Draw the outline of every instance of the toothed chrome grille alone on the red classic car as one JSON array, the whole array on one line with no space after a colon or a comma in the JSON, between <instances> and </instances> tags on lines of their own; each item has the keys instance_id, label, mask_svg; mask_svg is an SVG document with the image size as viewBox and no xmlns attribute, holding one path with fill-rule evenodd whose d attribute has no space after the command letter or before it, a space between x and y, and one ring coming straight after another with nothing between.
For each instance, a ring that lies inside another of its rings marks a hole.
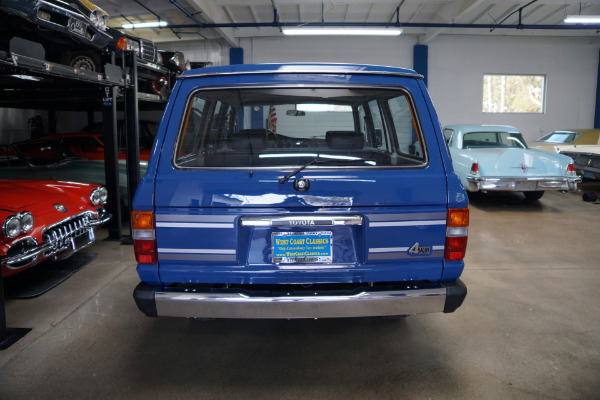
<instances>
[{"instance_id":1,"label":"toothed chrome grille alone on the red classic car","mask_svg":"<svg viewBox=\"0 0 600 400\"><path fill-rule=\"evenodd\" d=\"M42 233L42 238L44 243L50 244L52 248L44 255L49 256L65 249L74 248L76 246L75 239L83 235L86 235L83 238L86 242L88 242L87 237L93 241L94 230L90 225L90 220L95 218L93 212L86 211L46 228ZM89 242L91 243L91 241Z\"/></svg>"}]
</instances>

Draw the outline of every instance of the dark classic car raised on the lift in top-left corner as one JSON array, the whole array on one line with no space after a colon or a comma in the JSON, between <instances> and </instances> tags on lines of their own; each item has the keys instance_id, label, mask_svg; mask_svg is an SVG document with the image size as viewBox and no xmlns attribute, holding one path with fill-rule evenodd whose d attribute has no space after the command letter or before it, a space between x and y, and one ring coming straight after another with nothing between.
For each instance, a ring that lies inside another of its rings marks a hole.
<instances>
[{"instance_id":1,"label":"dark classic car raised on the lift in top-left corner","mask_svg":"<svg viewBox=\"0 0 600 400\"><path fill-rule=\"evenodd\" d=\"M0 0L0 47L10 51L11 39L20 37L40 43L48 61L100 65L101 52L112 40L108 20L89 0Z\"/></svg>"}]
</instances>

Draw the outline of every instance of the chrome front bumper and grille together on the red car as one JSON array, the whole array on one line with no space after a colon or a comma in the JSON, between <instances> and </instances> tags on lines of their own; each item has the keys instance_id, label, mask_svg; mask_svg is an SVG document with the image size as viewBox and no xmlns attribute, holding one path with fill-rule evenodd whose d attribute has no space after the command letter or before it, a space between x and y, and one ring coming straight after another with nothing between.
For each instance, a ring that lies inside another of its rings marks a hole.
<instances>
[{"instance_id":1,"label":"chrome front bumper and grille together on the red car","mask_svg":"<svg viewBox=\"0 0 600 400\"><path fill-rule=\"evenodd\" d=\"M64 252L71 255L92 244L95 240L94 229L107 222L111 217L111 214L102 210L98 217L95 217L92 212L86 211L67 218L44 230L42 235L45 239L44 242L23 247L14 255L0 256L0 265L6 265L9 269L19 269L28 266L40 255L43 255L44 258L59 253L62 256ZM11 249L9 248L7 254L10 253Z\"/></svg>"}]
</instances>

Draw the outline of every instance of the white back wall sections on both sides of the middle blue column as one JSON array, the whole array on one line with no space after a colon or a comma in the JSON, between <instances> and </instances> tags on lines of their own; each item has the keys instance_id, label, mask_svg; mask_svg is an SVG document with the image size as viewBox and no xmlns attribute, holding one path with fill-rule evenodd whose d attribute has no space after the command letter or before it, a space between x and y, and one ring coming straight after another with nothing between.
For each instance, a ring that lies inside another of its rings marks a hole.
<instances>
[{"instance_id":1,"label":"white back wall sections on both sides of the middle blue column","mask_svg":"<svg viewBox=\"0 0 600 400\"><path fill-rule=\"evenodd\" d=\"M416 36L241 39L245 63L355 62L412 68ZM442 124L506 124L528 141L554 129L592 127L600 38L438 36L429 90ZM544 114L484 114L484 73L546 76Z\"/></svg>"}]
</instances>

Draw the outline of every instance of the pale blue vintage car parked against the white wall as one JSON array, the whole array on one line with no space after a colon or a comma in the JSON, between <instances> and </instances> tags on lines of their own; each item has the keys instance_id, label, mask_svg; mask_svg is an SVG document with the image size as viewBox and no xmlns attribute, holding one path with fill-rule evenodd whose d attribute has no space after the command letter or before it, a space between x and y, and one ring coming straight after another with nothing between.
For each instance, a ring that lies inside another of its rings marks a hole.
<instances>
[{"instance_id":1,"label":"pale blue vintage car parked against the white wall","mask_svg":"<svg viewBox=\"0 0 600 400\"><path fill-rule=\"evenodd\" d=\"M454 171L469 191L518 191L538 200L546 190L574 191L581 182L571 157L528 148L512 126L449 125L444 136Z\"/></svg>"}]
</instances>

